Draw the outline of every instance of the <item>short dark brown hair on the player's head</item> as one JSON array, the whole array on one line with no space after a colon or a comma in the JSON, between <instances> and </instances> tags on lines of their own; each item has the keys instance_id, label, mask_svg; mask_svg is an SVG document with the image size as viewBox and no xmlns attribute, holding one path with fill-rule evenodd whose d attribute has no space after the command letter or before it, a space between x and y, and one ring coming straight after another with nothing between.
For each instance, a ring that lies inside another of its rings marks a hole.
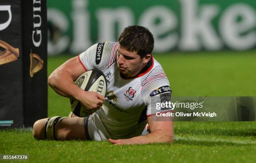
<instances>
[{"instance_id":1,"label":"short dark brown hair on the player's head","mask_svg":"<svg viewBox=\"0 0 256 163\"><path fill-rule=\"evenodd\" d=\"M143 58L151 54L154 48L154 37L148 28L133 25L126 27L118 38L121 48L137 52Z\"/></svg>"}]
</instances>

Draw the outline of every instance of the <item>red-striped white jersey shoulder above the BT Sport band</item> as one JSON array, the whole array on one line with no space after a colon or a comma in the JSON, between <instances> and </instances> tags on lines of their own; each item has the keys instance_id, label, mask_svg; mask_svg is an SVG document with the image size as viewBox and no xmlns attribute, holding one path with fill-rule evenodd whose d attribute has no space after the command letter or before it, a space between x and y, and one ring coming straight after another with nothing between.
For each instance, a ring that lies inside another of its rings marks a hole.
<instances>
[{"instance_id":1,"label":"red-striped white jersey shoulder above the BT Sport band","mask_svg":"<svg viewBox=\"0 0 256 163\"><path fill-rule=\"evenodd\" d=\"M154 59L153 64L152 69L141 76L141 93L143 96L161 87L170 89L169 80L161 64L156 59Z\"/></svg>"}]
</instances>

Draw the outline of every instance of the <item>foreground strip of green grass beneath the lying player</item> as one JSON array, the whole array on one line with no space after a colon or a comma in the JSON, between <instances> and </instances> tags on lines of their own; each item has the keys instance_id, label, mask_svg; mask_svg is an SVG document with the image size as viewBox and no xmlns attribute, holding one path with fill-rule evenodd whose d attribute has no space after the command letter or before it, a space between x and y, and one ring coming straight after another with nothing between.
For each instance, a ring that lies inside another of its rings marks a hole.
<instances>
[{"instance_id":1,"label":"foreground strip of green grass beneath the lying player","mask_svg":"<svg viewBox=\"0 0 256 163\"><path fill-rule=\"evenodd\" d=\"M35 162L251 162L255 122L175 122L172 144L122 145L93 141L35 140L30 130L0 132L3 154L28 154Z\"/></svg>"}]
</instances>

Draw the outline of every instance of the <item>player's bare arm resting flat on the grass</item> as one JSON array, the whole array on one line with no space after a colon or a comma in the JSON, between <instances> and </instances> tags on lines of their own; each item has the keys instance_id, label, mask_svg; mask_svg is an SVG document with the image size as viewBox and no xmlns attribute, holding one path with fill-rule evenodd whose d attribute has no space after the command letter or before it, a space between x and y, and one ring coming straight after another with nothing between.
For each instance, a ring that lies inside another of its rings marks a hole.
<instances>
[{"instance_id":1,"label":"player's bare arm resting flat on the grass","mask_svg":"<svg viewBox=\"0 0 256 163\"><path fill-rule=\"evenodd\" d=\"M172 118L169 121L153 121L156 115L148 117L150 133L144 136L136 136L129 139L108 139L115 145L122 144L148 144L148 143L171 143L174 138Z\"/></svg>"}]
</instances>

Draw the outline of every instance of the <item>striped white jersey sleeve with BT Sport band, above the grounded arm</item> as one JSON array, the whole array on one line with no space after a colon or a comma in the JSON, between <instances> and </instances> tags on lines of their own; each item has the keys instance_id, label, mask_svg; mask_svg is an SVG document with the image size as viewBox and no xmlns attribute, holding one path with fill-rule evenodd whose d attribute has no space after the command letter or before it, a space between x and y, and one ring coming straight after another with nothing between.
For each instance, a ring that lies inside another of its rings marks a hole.
<instances>
[{"instance_id":1,"label":"striped white jersey sleeve with BT Sport band, above the grounded arm","mask_svg":"<svg viewBox=\"0 0 256 163\"><path fill-rule=\"evenodd\" d=\"M141 78L141 86L141 94L147 106L147 116L172 110L169 107L160 108L160 103L171 102L172 94L169 80L160 65L146 77Z\"/></svg>"}]
</instances>

